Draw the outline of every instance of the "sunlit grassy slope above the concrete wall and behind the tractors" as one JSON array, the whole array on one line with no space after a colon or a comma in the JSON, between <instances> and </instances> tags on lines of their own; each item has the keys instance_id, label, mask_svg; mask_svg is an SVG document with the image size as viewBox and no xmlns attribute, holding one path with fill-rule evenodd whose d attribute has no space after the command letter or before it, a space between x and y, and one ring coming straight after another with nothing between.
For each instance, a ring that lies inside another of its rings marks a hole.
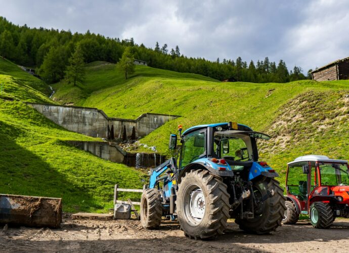
<instances>
[{"instance_id":1,"label":"sunlit grassy slope above the concrete wall and behind the tractors","mask_svg":"<svg viewBox=\"0 0 349 253\"><path fill-rule=\"evenodd\" d=\"M178 124L186 129L201 123L238 121L274 137L260 143L261 159L283 177L286 163L299 155L349 157L345 148L349 144L349 101L344 99L349 81L224 83L181 78L180 73L166 77L157 69L142 67L127 81L114 79L110 87L93 92L89 87L100 86L89 81L92 76L96 81L98 76L116 75L114 68L96 64L100 65L96 71L89 67L86 88L79 88L91 95L75 101L98 107L112 117L136 118L144 112L181 115L141 140L162 153L168 154L168 136L177 133ZM144 71L148 71L147 77L142 76ZM101 87L106 87L106 82L102 83Z\"/></svg>"}]
</instances>

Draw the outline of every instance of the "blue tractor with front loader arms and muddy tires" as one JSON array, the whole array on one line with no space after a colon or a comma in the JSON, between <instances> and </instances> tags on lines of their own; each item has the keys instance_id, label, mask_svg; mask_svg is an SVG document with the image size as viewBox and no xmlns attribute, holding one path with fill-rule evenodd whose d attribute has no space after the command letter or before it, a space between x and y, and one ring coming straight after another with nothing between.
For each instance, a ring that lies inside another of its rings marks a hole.
<instances>
[{"instance_id":1,"label":"blue tractor with front loader arms and muddy tires","mask_svg":"<svg viewBox=\"0 0 349 253\"><path fill-rule=\"evenodd\" d=\"M186 236L205 239L223 234L229 218L256 234L281 226L286 207L279 175L258 161L256 141L268 135L235 122L179 130L179 159L151 170L142 194L144 228L155 229L167 217L178 219ZM177 148L177 135L170 135L169 148Z\"/></svg>"}]
</instances>

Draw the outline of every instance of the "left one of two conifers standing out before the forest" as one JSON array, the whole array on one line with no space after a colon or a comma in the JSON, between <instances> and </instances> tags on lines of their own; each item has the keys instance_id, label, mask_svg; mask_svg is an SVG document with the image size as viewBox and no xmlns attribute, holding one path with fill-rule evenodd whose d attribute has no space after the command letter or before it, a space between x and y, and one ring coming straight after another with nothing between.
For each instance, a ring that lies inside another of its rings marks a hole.
<instances>
[{"instance_id":1,"label":"left one of two conifers standing out before the forest","mask_svg":"<svg viewBox=\"0 0 349 253\"><path fill-rule=\"evenodd\" d=\"M69 66L65 72L65 79L68 83L82 82L85 77L85 69L83 62L83 55L78 44L75 48L75 52L69 58Z\"/></svg>"}]
</instances>

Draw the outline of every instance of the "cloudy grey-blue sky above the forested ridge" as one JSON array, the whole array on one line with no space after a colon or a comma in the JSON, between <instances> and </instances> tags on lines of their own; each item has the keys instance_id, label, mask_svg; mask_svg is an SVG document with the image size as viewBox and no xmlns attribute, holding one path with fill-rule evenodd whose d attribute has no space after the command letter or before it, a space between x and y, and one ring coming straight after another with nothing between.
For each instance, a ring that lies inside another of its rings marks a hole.
<instances>
[{"instance_id":1,"label":"cloudy grey-blue sky above the forested ridge","mask_svg":"<svg viewBox=\"0 0 349 253\"><path fill-rule=\"evenodd\" d=\"M346 0L0 0L0 6L0 16L15 24L90 29L152 48L158 41L209 60L268 56L306 72L349 56Z\"/></svg>"}]
</instances>

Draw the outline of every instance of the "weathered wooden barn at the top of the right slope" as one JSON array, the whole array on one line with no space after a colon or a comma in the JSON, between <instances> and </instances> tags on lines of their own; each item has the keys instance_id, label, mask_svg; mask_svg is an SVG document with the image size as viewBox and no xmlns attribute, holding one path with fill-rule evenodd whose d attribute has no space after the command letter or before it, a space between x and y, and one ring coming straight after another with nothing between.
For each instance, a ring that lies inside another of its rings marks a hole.
<instances>
[{"instance_id":1,"label":"weathered wooden barn at the top of the right slope","mask_svg":"<svg viewBox=\"0 0 349 253\"><path fill-rule=\"evenodd\" d=\"M331 62L312 72L313 80L332 81L349 79L349 57Z\"/></svg>"}]
</instances>

